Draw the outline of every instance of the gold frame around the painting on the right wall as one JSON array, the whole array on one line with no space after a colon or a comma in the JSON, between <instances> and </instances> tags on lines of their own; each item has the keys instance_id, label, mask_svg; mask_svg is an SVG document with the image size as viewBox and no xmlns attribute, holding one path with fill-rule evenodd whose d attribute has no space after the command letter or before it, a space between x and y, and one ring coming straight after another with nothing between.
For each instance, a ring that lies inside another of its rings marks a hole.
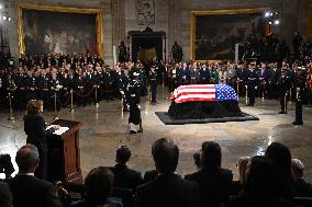
<instances>
[{"instance_id":1,"label":"gold frame around the painting on the right wall","mask_svg":"<svg viewBox=\"0 0 312 207\"><path fill-rule=\"evenodd\" d=\"M268 10L268 8L253 8L253 9L223 9L223 10L208 10L208 11L191 11L190 15L190 59L196 61L205 61L194 59L194 42L197 31L197 16L198 15L222 15L222 14L249 14L260 13ZM219 61L219 60L211 60Z\"/></svg>"}]
</instances>

